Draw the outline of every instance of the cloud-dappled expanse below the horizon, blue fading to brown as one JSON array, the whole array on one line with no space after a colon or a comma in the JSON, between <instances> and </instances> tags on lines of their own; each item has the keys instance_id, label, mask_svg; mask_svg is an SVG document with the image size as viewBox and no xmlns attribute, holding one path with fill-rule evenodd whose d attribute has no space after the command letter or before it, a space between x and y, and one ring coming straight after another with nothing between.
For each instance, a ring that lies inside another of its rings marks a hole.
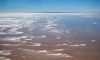
<instances>
[{"instance_id":1,"label":"cloud-dappled expanse below the horizon, blue fading to brown","mask_svg":"<svg viewBox=\"0 0 100 60\"><path fill-rule=\"evenodd\" d=\"M0 60L100 59L99 13L14 14L0 15Z\"/></svg>"}]
</instances>

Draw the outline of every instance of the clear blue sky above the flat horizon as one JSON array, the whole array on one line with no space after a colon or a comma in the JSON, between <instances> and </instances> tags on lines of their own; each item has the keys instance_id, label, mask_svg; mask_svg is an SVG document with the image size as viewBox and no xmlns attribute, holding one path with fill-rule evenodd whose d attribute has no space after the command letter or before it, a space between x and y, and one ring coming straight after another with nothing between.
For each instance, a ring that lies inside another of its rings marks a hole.
<instances>
[{"instance_id":1,"label":"clear blue sky above the flat horizon","mask_svg":"<svg viewBox=\"0 0 100 60\"><path fill-rule=\"evenodd\" d=\"M0 12L100 12L100 0L0 0Z\"/></svg>"}]
</instances>

